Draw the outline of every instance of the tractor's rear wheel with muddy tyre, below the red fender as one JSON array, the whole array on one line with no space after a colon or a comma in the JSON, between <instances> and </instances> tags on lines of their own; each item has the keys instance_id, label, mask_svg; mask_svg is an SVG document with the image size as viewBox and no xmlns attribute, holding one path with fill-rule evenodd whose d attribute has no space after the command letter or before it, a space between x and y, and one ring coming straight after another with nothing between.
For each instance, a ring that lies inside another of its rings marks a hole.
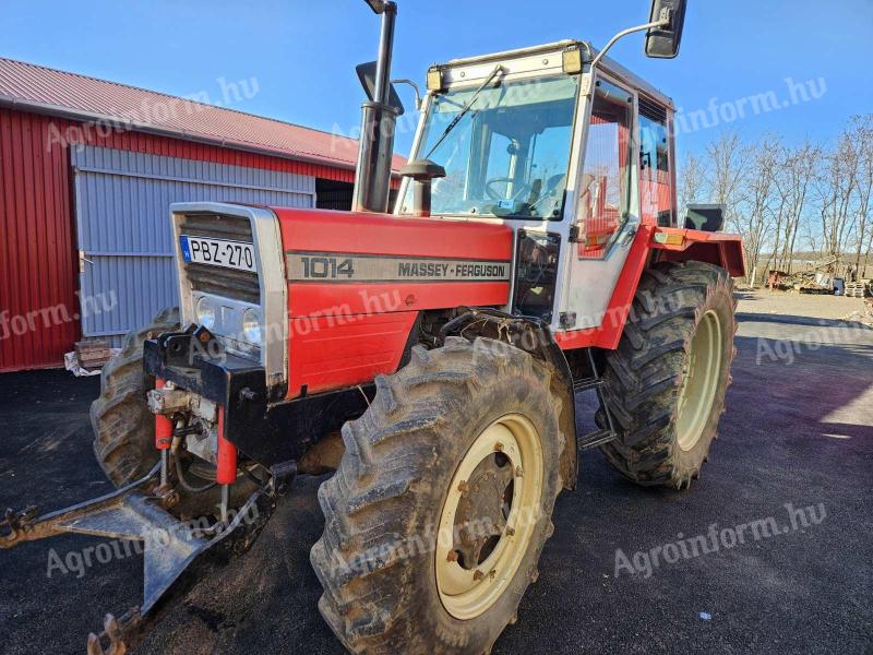
<instances>
[{"instance_id":1,"label":"tractor's rear wheel with muddy tyre, below the red fender","mask_svg":"<svg viewBox=\"0 0 873 655\"><path fill-rule=\"evenodd\" d=\"M619 439L601 451L627 479L682 489L699 476L731 381L736 306L718 266L661 263L643 274L603 373Z\"/></svg>"}]
</instances>

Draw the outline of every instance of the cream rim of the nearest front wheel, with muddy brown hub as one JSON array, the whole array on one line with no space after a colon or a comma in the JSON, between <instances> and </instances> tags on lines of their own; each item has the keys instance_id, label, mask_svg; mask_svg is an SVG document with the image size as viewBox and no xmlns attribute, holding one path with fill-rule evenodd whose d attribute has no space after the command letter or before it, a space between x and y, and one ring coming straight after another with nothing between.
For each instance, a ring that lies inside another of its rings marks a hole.
<instances>
[{"instance_id":1,"label":"cream rim of the nearest front wheel, with muddy brown hub","mask_svg":"<svg viewBox=\"0 0 873 655\"><path fill-rule=\"evenodd\" d=\"M488 426L464 455L436 535L436 586L453 617L481 616L515 577L539 523L542 478L539 434L518 414Z\"/></svg>"}]
</instances>

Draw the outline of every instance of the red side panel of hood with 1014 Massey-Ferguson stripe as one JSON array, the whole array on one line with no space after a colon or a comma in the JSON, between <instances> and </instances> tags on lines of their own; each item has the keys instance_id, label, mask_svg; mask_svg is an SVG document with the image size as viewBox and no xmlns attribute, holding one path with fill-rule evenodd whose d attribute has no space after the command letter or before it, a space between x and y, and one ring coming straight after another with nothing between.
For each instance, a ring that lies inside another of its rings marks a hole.
<instances>
[{"instance_id":1,"label":"red side panel of hood with 1014 Massey-Ferguson stripe","mask_svg":"<svg viewBox=\"0 0 873 655\"><path fill-rule=\"evenodd\" d=\"M505 225L273 211L288 281L288 397L394 372L423 310L509 302Z\"/></svg>"}]
</instances>

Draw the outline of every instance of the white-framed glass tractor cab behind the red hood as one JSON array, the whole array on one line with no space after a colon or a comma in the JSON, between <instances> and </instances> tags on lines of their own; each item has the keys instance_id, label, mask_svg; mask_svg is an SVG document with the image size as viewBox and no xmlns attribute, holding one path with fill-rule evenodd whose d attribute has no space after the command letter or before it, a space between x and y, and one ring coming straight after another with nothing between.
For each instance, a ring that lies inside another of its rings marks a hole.
<instances>
[{"instance_id":1,"label":"white-framed glass tractor cab behind the red hood","mask_svg":"<svg viewBox=\"0 0 873 655\"><path fill-rule=\"evenodd\" d=\"M509 225L507 310L554 332L599 325L638 228L677 225L670 98L576 40L456 59L427 80L410 159L438 174L407 177L395 214Z\"/></svg>"}]
</instances>

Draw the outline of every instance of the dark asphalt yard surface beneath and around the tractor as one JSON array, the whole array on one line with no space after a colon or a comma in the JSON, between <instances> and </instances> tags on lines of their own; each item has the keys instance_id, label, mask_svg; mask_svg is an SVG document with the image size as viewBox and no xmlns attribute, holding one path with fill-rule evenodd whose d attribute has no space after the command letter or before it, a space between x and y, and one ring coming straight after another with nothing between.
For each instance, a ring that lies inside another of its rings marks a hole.
<instances>
[{"instance_id":1,"label":"dark asphalt yard surface beneath and around the tractor","mask_svg":"<svg viewBox=\"0 0 873 655\"><path fill-rule=\"evenodd\" d=\"M728 412L702 479L683 492L639 489L587 455L578 489L558 500L539 581L494 652L873 652L873 330L833 320L850 300L744 296ZM61 371L0 376L0 502L57 508L108 489L89 446L97 390ZM579 400L582 417L591 408ZM180 598L140 652L342 653L309 567L319 481L299 479L252 551ZM817 523L794 528L787 504ZM714 524L736 534L770 519L781 534L654 563L653 549ZM57 565L99 543L65 536L0 553L4 653L82 653L104 612L139 602L135 555ZM622 556L639 564L633 573L617 569Z\"/></svg>"}]
</instances>

